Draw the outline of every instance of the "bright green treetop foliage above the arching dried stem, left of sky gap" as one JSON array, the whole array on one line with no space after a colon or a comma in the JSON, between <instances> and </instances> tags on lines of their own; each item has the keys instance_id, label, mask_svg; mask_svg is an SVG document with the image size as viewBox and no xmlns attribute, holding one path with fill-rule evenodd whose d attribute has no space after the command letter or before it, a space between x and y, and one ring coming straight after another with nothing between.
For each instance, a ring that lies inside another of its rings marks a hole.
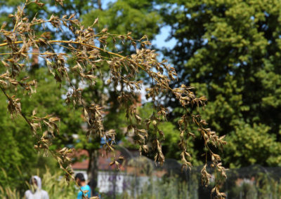
<instances>
[{"instance_id":1,"label":"bright green treetop foliage above the arching dried stem, left of sky gap","mask_svg":"<svg viewBox=\"0 0 281 199\"><path fill-rule=\"evenodd\" d=\"M159 33L161 17L157 11L152 11L153 4L151 1L118 0L115 3L108 4L107 7L105 10L95 9L83 15L84 25L92 25L94 20L98 18L96 32L100 32L103 28L107 28L111 34L131 32L134 39L141 39L146 35L148 39L152 40ZM122 50L125 55L131 50L131 45L126 41L122 45L116 46L121 48L119 50ZM114 50L113 43L109 43L107 47Z\"/></svg>"}]
</instances>

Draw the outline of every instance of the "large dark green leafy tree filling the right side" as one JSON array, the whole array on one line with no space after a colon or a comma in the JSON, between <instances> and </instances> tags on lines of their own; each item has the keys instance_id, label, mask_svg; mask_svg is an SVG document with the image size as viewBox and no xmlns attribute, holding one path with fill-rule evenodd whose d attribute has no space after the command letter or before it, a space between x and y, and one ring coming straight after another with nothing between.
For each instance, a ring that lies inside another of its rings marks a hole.
<instances>
[{"instance_id":1,"label":"large dark green leafy tree filling the right side","mask_svg":"<svg viewBox=\"0 0 281 199\"><path fill-rule=\"evenodd\" d=\"M280 148L280 6L280 1L179 0L162 8L177 40L165 50L180 74L174 85L201 88L197 94L208 98L203 116L220 135L229 135L225 160L236 167L280 165L280 153L272 153ZM244 148L247 153L238 150Z\"/></svg>"}]
</instances>

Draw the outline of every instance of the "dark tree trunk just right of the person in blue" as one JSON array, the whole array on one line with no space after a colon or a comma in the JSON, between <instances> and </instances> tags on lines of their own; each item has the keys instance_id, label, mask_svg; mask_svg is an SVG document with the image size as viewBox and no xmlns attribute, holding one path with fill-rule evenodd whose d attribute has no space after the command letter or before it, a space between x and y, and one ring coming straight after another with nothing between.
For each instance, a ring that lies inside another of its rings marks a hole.
<instances>
[{"instance_id":1,"label":"dark tree trunk just right of the person in blue","mask_svg":"<svg viewBox=\"0 0 281 199\"><path fill-rule=\"evenodd\" d=\"M92 195L97 195L96 188L98 187L98 149L89 151L89 167L88 176L90 179L89 186L91 187Z\"/></svg>"}]
</instances>

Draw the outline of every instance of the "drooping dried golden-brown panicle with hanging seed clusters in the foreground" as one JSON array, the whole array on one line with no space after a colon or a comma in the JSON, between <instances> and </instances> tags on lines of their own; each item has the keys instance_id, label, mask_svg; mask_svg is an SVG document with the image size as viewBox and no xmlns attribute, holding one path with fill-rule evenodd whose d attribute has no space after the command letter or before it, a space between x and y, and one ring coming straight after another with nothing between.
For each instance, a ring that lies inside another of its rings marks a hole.
<instances>
[{"instance_id":1,"label":"drooping dried golden-brown panicle with hanging seed clusters in the foreground","mask_svg":"<svg viewBox=\"0 0 281 199\"><path fill-rule=\"evenodd\" d=\"M61 0L56 0L56 2L63 5ZM158 125L162 121L166 121L169 111L161 104L160 96L174 95L183 109L185 109L185 113L178 121L181 130L181 134L178 136L181 137L179 146L182 150L181 160L183 167L191 166L187 139L189 136L195 136L188 130L189 125L194 123L201 132L202 139L204 139L204 147L207 149L209 156L211 156L213 166L225 175L220 157L211 151L209 145L218 147L226 144L226 142L223 140L223 137L218 137L215 132L206 128L207 123L201 118L200 114L193 114L194 111L192 111L196 107L198 109L199 107L204 107L207 98L196 97L194 92L192 92L193 88L186 85L181 85L181 88L170 87L172 81L176 81L176 71L169 64L166 64L165 60L159 62L155 50L145 48L150 45L146 36L143 36L141 39L133 39L130 36L130 32L126 35L116 35L110 34L107 32L107 29L96 33L93 27L98 23L98 19L93 22L91 27L84 27L80 24L79 20L75 19L74 15L64 15L63 18L51 15L49 19L38 19L35 17L29 19L25 15L25 8L29 4L44 6L39 1L27 0L22 7L18 7L15 15L10 16L15 22L13 29L5 29L5 25L2 25L0 29L1 37L5 38L5 41L0 43L0 47L5 48L7 52L0 54L1 62L7 69L6 73L0 75L0 86L8 99L8 110L10 113L13 115L20 114L24 117L30 125L32 132L38 138L38 144L35 148L48 150L51 140L59 133L57 125L59 118L55 116L39 117L35 111L32 116L25 116L21 111L24 107L20 107L20 99L17 99L15 96L10 97L5 92L8 88L18 88L19 85L24 90L27 90L29 95L35 92L36 79L32 81L27 81L28 78L18 80L20 72L25 71L27 66L29 66L27 61L31 55L41 57L55 80L70 88L66 93L65 102L72 104L74 107L83 107L82 114L89 126L87 135L103 137L105 139L104 147L107 151L114 151L115 130L105 130L103 126L104 107L102 104L87 102L82 97L84 90L77 88L70 79L70 74L72 74L75 81L94 85L101 76L100 68L105 65L109 68L107 85L115 88L118 85L124 85L126 88L126 92L120 92L118 102L120 106L126 107L126 117L130 122L127 129L133 131L135 142L139 144L140 151L148 153L148 151L153 150L155 151L155 162L164 163L161 146L164 133L159 130ZM73 39L70 41L52 40L50 32L43 32L41 36L37 36L34 29L38 26L45 27L46 24L52 25L60 32L70 32ZM107 42L115 43L117 41L131 43L131 46L136 48L136 52L130 56L124 56L121 53L108 51ZM100 47L96 46L96 43ZM60 46L67 53L62 53L61 50L58 53L55 50L55 46ZM38 50L32 51L32 49ZM76 64L67 64L68 59L74 60ZM133 103L143 85L143 81L137 81L140 71L145 72L152 82L150 88L145 90L146 97L154 102L155 112L150 118L141 118L138 115L136 103ZM145 124L147 128L139 129L140 124ZM47 128L46 132L41 132L42 125ZM156 133L151 133L149 131L150 127ZM148 146L148 139L152 139L152 147ZM67 173L68 178L72 174L69 167L70 160L67 158L67 153L70 152L71 150L66 148L52 152L58 163L60 163L60 167ZM117 160L112 162L112 164L115 163L117 163ZM209 181L209 174L206 170L202 170L202 179L204 182Z\"/></svg>"}]
</instances>

